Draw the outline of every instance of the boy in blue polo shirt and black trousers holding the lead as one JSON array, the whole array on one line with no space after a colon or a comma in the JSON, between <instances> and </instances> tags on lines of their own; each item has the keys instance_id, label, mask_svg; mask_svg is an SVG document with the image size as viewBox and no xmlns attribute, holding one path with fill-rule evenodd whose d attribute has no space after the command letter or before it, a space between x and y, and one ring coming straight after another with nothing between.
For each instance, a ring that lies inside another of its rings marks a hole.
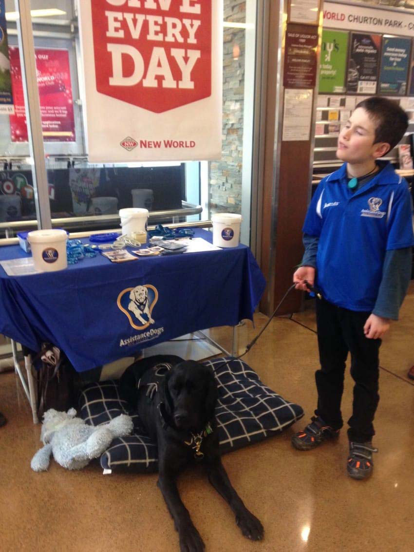
<instances>
[{"instance_id":1,"label":"boy in blue polo shirt and black trousers holding the lead","mask_svg":"<svg viewBox=\"0 0 414 552\"><path fill-rule=\"evenodd\" d=\"M309 450L338 437L350 352L354 394L347 471L354 479L373 469L378 352L390 319L398 319L411 276L410 192L389 162L378 161L407 126L406 113L389 99L374 96L357 105L339 133L336 155L344 163L322 179L307 211L305 254L293 275L296 289L315 283L323 298L316 300L317 408L292 444Z\"/></svg>"}]
</instances>

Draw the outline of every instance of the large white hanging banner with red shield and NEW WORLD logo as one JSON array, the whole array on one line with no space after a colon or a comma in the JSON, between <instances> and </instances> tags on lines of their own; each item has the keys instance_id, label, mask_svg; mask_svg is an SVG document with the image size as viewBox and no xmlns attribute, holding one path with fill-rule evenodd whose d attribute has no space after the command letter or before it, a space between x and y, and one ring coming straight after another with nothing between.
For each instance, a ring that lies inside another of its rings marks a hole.
<instances>
[{"instance_id":1,"label":"large white hanging banner with red shield and NEW WORLD logo","mask_svg":"<svg viewBox=\"0 0 414 552\"><path fill-rule=\"evenodd\" d=\"M78 7L89 161L220 158L222 0Z\"/></svg>"}]
</instances>

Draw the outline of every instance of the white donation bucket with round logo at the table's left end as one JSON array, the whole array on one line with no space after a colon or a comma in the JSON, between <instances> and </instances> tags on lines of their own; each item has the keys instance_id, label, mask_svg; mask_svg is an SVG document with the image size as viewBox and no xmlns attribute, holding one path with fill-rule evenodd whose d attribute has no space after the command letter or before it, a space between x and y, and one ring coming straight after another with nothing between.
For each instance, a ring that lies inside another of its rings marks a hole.
<instances>
[{"instance_id":1,"label":"white donation bucket with round logo at the table's left end","mask_svg":"<svg viewBox=\"0 0 414 552\"><path fill-rule=\"evenodd\" d=\"M65 230L33 230L27 238L36 270L52 272L67 267Z\"/></svg>"}]
</instances>

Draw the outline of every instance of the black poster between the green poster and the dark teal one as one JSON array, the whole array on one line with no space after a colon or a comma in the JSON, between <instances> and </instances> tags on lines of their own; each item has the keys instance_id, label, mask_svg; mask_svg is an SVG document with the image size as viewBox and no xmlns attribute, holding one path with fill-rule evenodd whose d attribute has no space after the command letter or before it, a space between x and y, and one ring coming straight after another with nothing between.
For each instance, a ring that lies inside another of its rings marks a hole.
<instances>
[{"instance_id":1,"label":"black poster between the green poster and the dark teal one","mask_svg":"<svg viewBox=\"0 0 414 552\"><path fill-rule=\"evenodd\" d=\"M381 35L352 33L349 46L347 92L375 94Z\"/></svg>"}]
</instances>

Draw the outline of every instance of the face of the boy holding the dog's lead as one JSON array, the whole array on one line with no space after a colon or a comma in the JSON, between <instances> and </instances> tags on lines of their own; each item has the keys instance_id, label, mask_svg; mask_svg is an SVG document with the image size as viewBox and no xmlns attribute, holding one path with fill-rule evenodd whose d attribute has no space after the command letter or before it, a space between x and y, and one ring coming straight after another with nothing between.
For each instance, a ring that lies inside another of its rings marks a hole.
<instances>
[{"instance_id":1,"label":"face of the boy holding the dog's lead","mask_svg":"<svg viewBox=\"0 0 414 552\"><path fill-rule=\"evenodd\" d=\"M390 148L386 142L375 141L375 122L364 108L355 109L339 132L336 156L351 164L374 161Z\"/></svg>"}]
</instances>

